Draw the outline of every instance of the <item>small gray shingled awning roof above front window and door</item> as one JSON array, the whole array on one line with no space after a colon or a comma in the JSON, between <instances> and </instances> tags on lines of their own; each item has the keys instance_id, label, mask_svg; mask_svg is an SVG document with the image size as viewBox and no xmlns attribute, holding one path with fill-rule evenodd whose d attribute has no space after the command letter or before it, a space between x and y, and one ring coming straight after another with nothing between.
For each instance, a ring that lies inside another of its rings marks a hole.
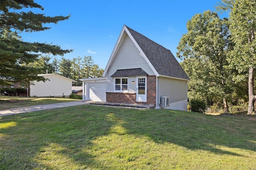
<instances>
[{"instance_id":1,"label":"small gray shingled awning roof above front window and door","mask_svg":"<svg viewBox=\"0 0 256 170\"><path fill-rule=\"evenodd\" d=\"M122 69L117 70L113 75L110 77L128 77L128 76L140 76L140 75L148 75L143 69Z\"/></svg>"}]
</instances>

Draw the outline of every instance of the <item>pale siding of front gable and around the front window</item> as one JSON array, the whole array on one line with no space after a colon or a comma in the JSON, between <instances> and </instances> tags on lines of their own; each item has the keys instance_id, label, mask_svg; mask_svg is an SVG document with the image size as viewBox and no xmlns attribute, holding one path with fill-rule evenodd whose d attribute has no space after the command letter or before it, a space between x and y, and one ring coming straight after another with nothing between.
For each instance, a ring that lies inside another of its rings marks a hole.
<instances>
[{"instance_id":1,"label":"pale siding of front gable and around the front window","mask_svg":"<svg viewBox=\"0 0 256 170\"><path fill-rule=\"evenodd\" d=\"M135 69L141 68L148 75L154 75L154 72L148 65L147 61L139 55L140 52L138 48L134 45L132 40L128 35L125 36L121 46L119 47L114 60L111 65L108 67L107 76L107 91L114 91L114 77L110 77L112 74L119 69ZM136 77L128 77L128 92L136 92L136 85L132 84L132 81L136 82Z\"/></svg>"}]
</instances>

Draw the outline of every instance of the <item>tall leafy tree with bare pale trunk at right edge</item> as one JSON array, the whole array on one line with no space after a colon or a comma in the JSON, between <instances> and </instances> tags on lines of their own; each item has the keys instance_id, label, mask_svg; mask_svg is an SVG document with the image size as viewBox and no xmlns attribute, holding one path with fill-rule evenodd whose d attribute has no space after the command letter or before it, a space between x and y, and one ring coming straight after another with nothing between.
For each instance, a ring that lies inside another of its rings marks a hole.
<instances>
[{"instance_id":1,"label":"tall leafy tree with bare pale trunk at right edge","mask_svg":"<svg viewBox=\"0 0 256 170\"><path fill-rule=\"evenodd\" d=\"M256 69L256 0L236 0L230 11L230 31L235 43L231 66L239 73L248 71L248 114L253 114L254 72Z\"/></svg>"}]
</instances>

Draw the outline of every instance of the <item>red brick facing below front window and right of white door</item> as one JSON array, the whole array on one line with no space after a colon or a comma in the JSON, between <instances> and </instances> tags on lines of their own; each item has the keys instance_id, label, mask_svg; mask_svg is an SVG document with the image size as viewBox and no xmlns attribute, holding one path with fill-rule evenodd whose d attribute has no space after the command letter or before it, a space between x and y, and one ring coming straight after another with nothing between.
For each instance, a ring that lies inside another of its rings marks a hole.
<instances>
[{"instance_id":1,"label":"red brick facing below front window and right of white door","mask_svg":"<svg viewBox=\"0 0 256 170\"><path fill-rule=\"evenodd\" d=\"M131 103L156 105L156 76L147 76L147 102L136 102L136 93L106 92L106 101L109 103Z\"/></svg>"}]
</instances>

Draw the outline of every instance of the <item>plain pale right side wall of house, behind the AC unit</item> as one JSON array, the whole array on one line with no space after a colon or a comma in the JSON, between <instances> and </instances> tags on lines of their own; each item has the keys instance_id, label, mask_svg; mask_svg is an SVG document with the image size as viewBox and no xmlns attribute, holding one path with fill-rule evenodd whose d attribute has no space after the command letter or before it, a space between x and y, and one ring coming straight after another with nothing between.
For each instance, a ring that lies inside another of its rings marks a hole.
<instances>
[{"instance_id":1,"label":"plain pale right side wall of house, behind the AC unit","mask_svg":"<svg viewBox=\"0 0 256 170\"><path fill-rule=\"evenodd\" d=\"M170 106L165 109L187 110L187 81L171 79L166 77L158 78L159 97L170 96ZM160 99L159 99L160 100Z\"/></svg>"}]
</instances>

